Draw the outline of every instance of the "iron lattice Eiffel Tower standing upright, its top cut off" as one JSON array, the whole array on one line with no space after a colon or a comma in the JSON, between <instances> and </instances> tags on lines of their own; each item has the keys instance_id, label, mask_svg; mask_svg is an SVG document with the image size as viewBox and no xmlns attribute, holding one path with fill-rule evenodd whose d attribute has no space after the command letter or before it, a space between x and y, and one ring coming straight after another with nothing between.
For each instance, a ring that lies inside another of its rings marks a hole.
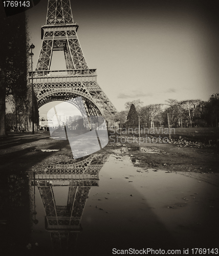
<instances>
[{"instance_id":1,"label":"iron lattice Eiffel Tower standing upright, its top cut off","mask_svg":"<svg viewBox=\"0 0 219 256\"><path fill-rule=\"evenodd\" d=\"M38 108L51 101L82 97L88 116L117 110L97 83L96 69L89 69L83 56L70 0L49 0L46 25L41 27L42 46L33 86ZM51 71L53 51L63 51L66 70Z\"/></svg>"}]
</instances>

